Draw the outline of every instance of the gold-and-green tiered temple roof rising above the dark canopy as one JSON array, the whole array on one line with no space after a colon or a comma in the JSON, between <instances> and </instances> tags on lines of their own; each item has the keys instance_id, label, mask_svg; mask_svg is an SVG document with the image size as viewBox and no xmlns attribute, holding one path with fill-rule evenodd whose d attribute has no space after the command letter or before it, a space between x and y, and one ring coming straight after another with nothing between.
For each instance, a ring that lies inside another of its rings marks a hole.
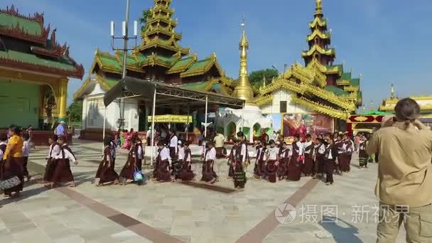
<instances>
[{"instance_id":1,"label":"gold-and-green tiered temple roof rising above the dark canopy","mask_svg":"<svg viewBox=\"0 0 432 243\"><path fill-rule=\"evenodd\" d=\"M180 45L182 34L175 31L178 21L173 20L174 9L170 4L171 0L154 0L147 26L141 31L142 42L127 55L127 75L229 95L232 80L225 77L216 53L199 59L196 53L190 54L190 48ZM122 60L122 51L112 54L96 50L90 69L94 78L82 85L75 98L86 95L95 80L105 91L109 90L121 78Z\"/></svg>"}]
</instances>

